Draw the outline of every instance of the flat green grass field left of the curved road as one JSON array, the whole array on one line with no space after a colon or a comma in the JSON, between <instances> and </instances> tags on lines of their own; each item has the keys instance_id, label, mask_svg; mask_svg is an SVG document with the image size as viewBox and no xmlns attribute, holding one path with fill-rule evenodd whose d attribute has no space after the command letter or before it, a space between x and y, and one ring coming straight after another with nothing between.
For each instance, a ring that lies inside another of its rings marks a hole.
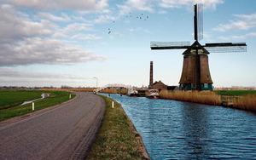
<instances>
[{"instance_id":1,"label":"flat green grass field left of the curved road","mask_svg":"<svg viewBox=\"0 0 256 160\"><path fill-rule=\"evenodd\" d=\"M43 91L43 90L0 90L0 122L12 117L18 117L31 113L32 103L20 105L23 100L35 100L41 98L41 94L49 93L50 97L34 101L35 110L42 110L49 106L55 106L64 101L70 100L70 92L63 91ZM72 94L71 98L74 98L75 94Z\"/></svg>"}]
</instances>

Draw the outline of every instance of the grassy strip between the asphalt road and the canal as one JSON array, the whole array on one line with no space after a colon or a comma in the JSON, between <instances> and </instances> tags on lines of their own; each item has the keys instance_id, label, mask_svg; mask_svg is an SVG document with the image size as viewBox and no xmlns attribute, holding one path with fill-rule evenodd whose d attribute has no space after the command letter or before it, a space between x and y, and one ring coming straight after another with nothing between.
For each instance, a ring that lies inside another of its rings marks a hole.
<instances>
[{"instance_id":1,"label":"grassy strip between the asphalt road and the canal","mask_svg":"<svg viewBox=\"0 0 256 160\"><path fill-rule=\"evenodd\" d=\"M114 101L112 108L113 100L102 97L107 105L102 127L85 159L142 159L140 134L119 103Z\"/></svg>"}]
</instances>

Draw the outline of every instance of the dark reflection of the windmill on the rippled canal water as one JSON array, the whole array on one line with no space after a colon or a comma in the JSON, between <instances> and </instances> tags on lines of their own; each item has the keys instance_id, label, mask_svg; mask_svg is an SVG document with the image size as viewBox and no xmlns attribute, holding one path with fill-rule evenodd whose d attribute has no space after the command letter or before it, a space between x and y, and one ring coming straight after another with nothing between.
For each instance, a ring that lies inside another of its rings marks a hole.
<instances>
[{"instance_id":1,"label":"dark reflection of the windmill on the rippled canal water","mask_svg":"<svg viewBox=\"0 0 256 160\"><path fill-rule=\"evenodd\" d=\"M208 146L209 124L207 122L207 107L198 107L194 104L183 106L183 150L187 151L185 158L202 158L209 155L211 148Z\"/></svg>"}]
</instances>

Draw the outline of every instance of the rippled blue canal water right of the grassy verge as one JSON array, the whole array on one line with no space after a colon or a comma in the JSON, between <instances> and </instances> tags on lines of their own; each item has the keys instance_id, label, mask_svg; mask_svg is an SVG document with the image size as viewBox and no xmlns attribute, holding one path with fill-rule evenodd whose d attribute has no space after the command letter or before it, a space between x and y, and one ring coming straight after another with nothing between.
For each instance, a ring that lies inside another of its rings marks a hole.
<instances>
[{"instance_id":1,"label":"rippled blue canal water right of the grassy verge","mask_svg":"<svg viewBox=\"0 0 256 160\"><path fill-rule=\"evenodd\" d=\"M256 159L256 113L119 94L110 98L121 103L152 159Z\"/></svg>"}]
</instances>

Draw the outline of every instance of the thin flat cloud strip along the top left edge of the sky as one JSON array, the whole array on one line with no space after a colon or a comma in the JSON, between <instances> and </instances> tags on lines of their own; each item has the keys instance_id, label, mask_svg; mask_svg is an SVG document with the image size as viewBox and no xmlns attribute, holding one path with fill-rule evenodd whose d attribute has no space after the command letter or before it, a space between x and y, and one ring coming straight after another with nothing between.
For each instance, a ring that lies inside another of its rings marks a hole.
<instances>
[{"instance_id":1,"label":"thin flat cloud strip along the top left edge of the sky","mask_svg":"<svg viewBox=\"0 0 256 160\"><path fill-rule=\"evenodd\" d=\"M101 10L108 7L108 0L0 0L3 3L12 3L17 6L25 6L32 9L77 9L77 10Z\"/></svg>"}]
</instances>

